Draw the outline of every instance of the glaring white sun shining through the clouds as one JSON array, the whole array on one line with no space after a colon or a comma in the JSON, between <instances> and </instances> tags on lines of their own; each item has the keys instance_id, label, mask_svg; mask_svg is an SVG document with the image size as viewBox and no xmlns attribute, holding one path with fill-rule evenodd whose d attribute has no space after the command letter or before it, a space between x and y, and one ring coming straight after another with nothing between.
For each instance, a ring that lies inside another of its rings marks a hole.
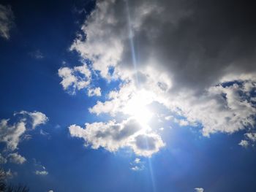
<instances>
[{"instance_id":1,"label":"glaring white sun shining through the clouds","mask_svg":"<svg viewBox=\"0 0 256 192\"><path fill-rule=\"evenodd\" d=\"M148 107L151 101L150 94L145 91L138 91L127 101L124 112L138 120L138 123L146 128L153 116L153 112Z\"/></svg>"}]
</instances>

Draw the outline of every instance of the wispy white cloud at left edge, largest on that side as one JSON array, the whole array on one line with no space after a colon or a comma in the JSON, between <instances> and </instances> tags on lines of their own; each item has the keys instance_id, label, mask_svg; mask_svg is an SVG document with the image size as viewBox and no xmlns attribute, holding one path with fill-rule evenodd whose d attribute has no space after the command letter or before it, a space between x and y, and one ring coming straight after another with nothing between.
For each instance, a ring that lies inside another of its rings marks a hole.
<instances>
[{"instance_id":1,"label":"wispy white cloud at left edge, largest on that side","mask_svg":"<svg viewBox=\"0 0 256 192\"><path fill-rule=\"evenodd\" d=\"M15 112L16 121L10 123L10 119L0 120L0 142L7 145L7 150L15 150L21 137L28 130L32 130L48 120L42 112Z\"/></svg>"}]
</instances>

